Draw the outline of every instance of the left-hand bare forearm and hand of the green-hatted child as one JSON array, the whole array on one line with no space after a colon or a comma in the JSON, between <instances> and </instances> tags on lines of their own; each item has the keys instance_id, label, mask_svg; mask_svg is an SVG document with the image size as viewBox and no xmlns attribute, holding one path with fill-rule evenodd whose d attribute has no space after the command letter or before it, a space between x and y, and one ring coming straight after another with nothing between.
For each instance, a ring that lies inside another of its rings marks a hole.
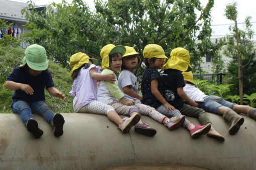
<instances>
[{"instance_id":1,"label":"left-hand bare forearm and hand of the green-hatted child","mask_svg":"<svg viewBox=\"0 0 256 170\"><path fill-rule=\"evenodd\" d=\"M21 89L30 95L34 93L33 88L29 84L23 84L23 83L11 81L11 80L6 81L5 87L11 90Z\"/></svg>"}]
</instances>

